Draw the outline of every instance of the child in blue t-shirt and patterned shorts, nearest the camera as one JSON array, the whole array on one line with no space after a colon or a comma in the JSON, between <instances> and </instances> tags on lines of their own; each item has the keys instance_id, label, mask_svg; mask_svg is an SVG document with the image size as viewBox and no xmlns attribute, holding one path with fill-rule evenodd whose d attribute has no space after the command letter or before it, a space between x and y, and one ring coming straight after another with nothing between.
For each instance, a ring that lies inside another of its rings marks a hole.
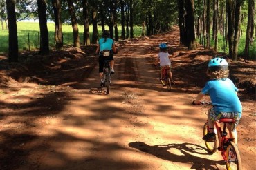
<instances>
[{"instance_id":1,"label":"child in blue t-shirt and patterned shorts, nearest the camera","mask_svg":"<svg viewBox=\"0 0 256 170\"><path fill-rule=\"evenodd\" d=\"M237 87L228 78L229 70L228 63L225 59L214 58L208 63L206 74L210 77L210 81L205 84L205 87L196 96L193 105L200 105L200 100L205 94L210 95L213 107L208 110L208 125L209 133L203 136L203 140L208 142L214 141L214 121L220 118L234 118L235 123L228 123L227 127L231 138L237 145L237 131L235 127L239 123L242 113L241 102L237 96Z\"/></svg>"}]
</instances>

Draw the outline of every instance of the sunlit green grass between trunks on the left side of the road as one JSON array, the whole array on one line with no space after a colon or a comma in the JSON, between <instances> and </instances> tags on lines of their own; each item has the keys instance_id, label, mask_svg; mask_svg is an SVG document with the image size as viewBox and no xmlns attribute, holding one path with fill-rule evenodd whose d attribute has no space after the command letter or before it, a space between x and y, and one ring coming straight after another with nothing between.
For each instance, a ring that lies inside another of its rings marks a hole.
<instances>
[{"instance_id":1,"label":"sunlit green grass between trunks on the left side of the road","mask_svg":"<svg viewBox=\"0 0 256 170\"><path fill-rule=\"evenodd\" d=\"M83 42L83 31L84 26L78 25L80 43ZM92 37L92 25L90 25L90 37ZM38 50L39 48L39 23L33 22L17 22L18 30L18 43L19 51L21 50ZM62 25L63 32L63 43L64 45L73 45L73 30L71 25ZM50 48L55 47L55 25L54 23L48 23L48 33L49 33L49 46ZM98 36L101 37L102 28L98 26ZM134 36L140 36L141 28L138 26L134 27ZM121 35L121 27L118 27L118 35ZM28 37L29 42L28 43ZM0 53L8 53L8 31L0 31Z\"/></svg>"}]
</instances>

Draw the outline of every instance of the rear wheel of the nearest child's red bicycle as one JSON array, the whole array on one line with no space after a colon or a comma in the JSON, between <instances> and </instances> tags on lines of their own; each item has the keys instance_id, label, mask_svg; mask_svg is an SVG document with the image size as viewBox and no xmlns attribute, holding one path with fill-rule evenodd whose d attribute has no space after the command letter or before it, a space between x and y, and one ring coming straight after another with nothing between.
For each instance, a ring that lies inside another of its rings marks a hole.
<instances>
[{"instance_id":1,"label":"rear wheel of the nearest child's red bicycle","mask_svg":"<svg viewBox=\"0 0 256 170\"><path fill-rule=\"evenodd\" d=\"M234 142L230 142L226 150L226 168L228 170L242 169L241 156Z\"/></svg>"}]
</instances>

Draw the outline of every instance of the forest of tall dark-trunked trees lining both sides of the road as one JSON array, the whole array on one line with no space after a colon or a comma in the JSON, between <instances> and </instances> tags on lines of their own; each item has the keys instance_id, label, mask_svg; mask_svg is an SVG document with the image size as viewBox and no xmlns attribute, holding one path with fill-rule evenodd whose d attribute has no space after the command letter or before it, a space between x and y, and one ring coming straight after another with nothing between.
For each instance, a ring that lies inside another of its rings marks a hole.
<instances>
[{"instance_id":1,"label":"forest of tall dark-trunked trees lining both sides of the road","mask_svg":"<svg viewBox=\"0 0 256 170\"><path fill-rule=\"evenodd\" d=\"M256 56L255 0L1 0L0 3L2 30L9 31L10 62L19 59L17 22L24 19L39 21L40 54L50 52L47 23L54 21L55 50L63 48L64 24L72 26L73 47L97 43L98 25L102 30L107 27L115 41L133 38L134 25L141 27L141 36L166 32L179 25L180 43L189 50L201 45L228 52L235 61L238 56L244 59ZM6 28L4 23L8 25ZM83 25L84 29L79 30L77 25ZM83 32L82 42L79 32Z\"/></svg>"}]
</instances>

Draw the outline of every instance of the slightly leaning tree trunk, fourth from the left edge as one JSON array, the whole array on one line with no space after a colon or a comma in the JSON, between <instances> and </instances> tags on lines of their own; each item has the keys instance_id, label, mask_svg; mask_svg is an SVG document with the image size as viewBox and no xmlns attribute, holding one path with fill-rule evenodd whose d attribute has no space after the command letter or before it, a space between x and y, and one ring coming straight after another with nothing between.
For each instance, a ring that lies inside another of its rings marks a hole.
<instances>
[{"instance_id":1,"label":"slightly leaning tree trunk, fourth from the left edge","mask_svg":"<svg viewBox=\"0 0 256 170\"><path fill-rule=\"evenodd\" d=\"M68 12L71 16L71 24L73 28L73 47L80 47L79 30L73 0L68 0Z\"/></svg>"}]
</instances>

